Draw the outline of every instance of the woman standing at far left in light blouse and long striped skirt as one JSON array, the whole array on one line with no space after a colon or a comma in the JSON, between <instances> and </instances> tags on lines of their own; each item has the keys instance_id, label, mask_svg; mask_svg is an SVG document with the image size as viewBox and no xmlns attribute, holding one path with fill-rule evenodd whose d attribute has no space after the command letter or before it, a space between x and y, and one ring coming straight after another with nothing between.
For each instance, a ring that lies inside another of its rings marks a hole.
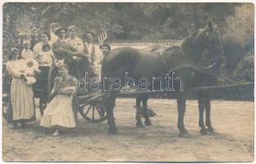
<instances>
[{"instance_id":1,"label":"woman standing at far left in light blouse and long striped skirt","mask_svg":"<svg viewBox=\"0 0 256 164\"><path fill-rule=\"evenodd\" d=\"M19 50L17 48L11 49L9 59L7 72L12 79L12 122L14 127L17 126L17 123L21 123L21 127L25 127L25 122L35 120L34 93L32 86L25 84L21 79L25 72L25 61L23 59L19 60Z\"/></svg>"}]
</instances>

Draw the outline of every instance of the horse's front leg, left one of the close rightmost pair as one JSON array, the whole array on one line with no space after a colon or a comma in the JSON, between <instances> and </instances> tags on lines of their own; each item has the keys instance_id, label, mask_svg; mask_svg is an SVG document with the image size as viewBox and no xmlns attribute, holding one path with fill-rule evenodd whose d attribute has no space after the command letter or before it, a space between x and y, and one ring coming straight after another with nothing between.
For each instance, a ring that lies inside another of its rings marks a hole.
<instances>
[{"instance_id":1,"label":"horse's front leg, left one of the close rightmost pair","mask_svg":"<svg viewBox=\"0 0 256 164\"><path fill-rule=\"evenodd\" d=\"M199 92L199 127L201 128L201 134L207 134L207 130L203 122L203 112L205 108L205 98L203 92Z\"/></svg>"}]
</instances>

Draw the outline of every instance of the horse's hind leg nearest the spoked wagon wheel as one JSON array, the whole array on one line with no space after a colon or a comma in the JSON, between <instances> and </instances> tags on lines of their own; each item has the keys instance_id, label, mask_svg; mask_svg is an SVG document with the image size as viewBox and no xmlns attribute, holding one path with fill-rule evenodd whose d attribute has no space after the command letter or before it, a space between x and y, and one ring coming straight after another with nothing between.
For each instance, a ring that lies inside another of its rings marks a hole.
<instances>
[{"instance_id":1,"label":"horse's hind leg nearest the spoked wagon wheel","mask_svg":"<svg viewBox=\"0 0 256 164\"><path fill-rule=\"evenodd\" d=\"M107 125L109 125L108 132L110 134L117 134L117 127L114 118L114 107L116 98L107 98Z\"/></svg>"}]
</instances>

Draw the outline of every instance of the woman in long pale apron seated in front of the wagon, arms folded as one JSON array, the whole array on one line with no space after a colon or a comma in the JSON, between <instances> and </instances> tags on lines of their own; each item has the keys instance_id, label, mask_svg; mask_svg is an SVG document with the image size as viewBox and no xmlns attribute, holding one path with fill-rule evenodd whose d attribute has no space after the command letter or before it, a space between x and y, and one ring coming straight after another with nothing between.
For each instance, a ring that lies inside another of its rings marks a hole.
<instances>
[{"instance_id":1,"label":"woman in long pale apron seated in front of the wagon, arms folded","mask_svg":"<svg viewBox=\"0 0 256 164\"><path fill-rule=\"evenodd\" d=\"M40 125L54 130L57 136L60 130L72 130L76 127L75 112L72 108L72 98L76 90L76 79L69 75L69 67L63 64L59 67L59 75L54 80L51 93L53 100L43 112Z\"/></svg>"}]
</instances>

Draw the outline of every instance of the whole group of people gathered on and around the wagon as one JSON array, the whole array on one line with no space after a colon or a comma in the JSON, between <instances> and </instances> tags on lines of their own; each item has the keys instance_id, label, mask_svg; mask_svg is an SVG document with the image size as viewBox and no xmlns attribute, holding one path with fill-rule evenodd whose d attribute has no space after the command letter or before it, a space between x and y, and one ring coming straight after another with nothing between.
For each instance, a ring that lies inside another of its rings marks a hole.
<instances>
[{"instance_id":1,"label":"whole group of people gathered on and around the wagon","mask_svg":"<svg viewBox=\"0 0 256 164\"><path fill-rule=\"evenodd\" d=\"M75 25L66 29L57 23L50 25L49 32L43 31L41 34L37 28L33 28L30 39L25 33L18 37L19 43L11 49L6 63L8 75L11 76L7 122L13 123L14 128L24 128L26 122L35 120L32 90L35 75L40 74L39 66L57 66L59 75L54 80L53 99L44 110L40 125L53 129L54 136L60 130L75 128L72 98L76 91L76 79L85 71L85 60L99 76L103 55L110 52L110 46L103 44L98 47L94 44L94 33L85 32L80 39Z\"/></svg>"}]
</instances>

